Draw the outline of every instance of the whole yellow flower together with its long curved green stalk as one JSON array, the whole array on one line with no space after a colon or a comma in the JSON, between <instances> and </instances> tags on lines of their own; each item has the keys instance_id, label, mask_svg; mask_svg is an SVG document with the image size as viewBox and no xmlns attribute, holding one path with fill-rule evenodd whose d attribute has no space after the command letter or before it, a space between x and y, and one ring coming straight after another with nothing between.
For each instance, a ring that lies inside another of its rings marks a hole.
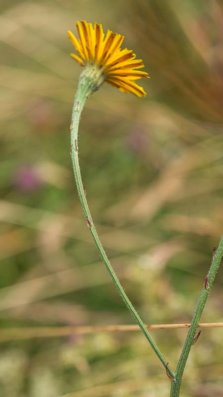
<instances>
[{"instance_id":1,"label":"whole yellow flower together with its long curved green stalk","mask_svg":"<svg viewBox=\"0 0 223 397\"><path fill-rule=\"evenodd\" d=\"M138 86L134 80L141 77L148 77L148 73L134 70L134 68L143 67L144 65L141 60L135 61L135 54L133 54L132 51L120 49L120 45L124 38L123 36L108 31L106 38L104 39L102 25L95 24L95 28L93 29L92 24L89 24L86 21L82 21L81 23L77 22L77 28L80 37L79 41L70 31L68 32L68 37L71 39L79 54L78 56L71 54L71 56L78 61L81 66L85 66L80 75L70 125L70 154L79 199L86 218L86 223L113 283L115 284L126 307L135 318L153 350L168 371L168 375L173 379L174 372L169 366L167 367L167 360L161 353L145 324L124 292L124 289L122 288L102 246L88 207L78 158L78 128L80 115L86 100L90 95L93 94L104 81L116 86L122 92L130 92L138 97L146 95L144 89Z\"/></svg>"}]
</instances>

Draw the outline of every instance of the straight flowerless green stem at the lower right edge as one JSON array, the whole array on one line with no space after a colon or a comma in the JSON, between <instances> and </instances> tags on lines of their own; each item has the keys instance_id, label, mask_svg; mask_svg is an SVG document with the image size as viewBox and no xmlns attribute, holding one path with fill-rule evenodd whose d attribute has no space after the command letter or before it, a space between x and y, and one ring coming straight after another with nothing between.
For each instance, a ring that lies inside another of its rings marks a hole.
<instances>
[{"instance_id":1,"label":"straight flowerless green stem at the lower right edge","mask_svg":"<svg viewBox=\"0 0 223 397\"><path fill-rule=\"evenodd\" d=\"M191 322L191 326L189 328L182 353L180 355L177 367L176 367L176 372L175 372L175 382L172 382L171 384L171 392L170 392L170 397L178 397L180 393L180 387L181 387L181 381L182 381L182 376L183 376L183 371L187 362L188 355L190 353L191 346L193 345L195 333L198 327L198 323L201 319L206 301L208 299L208 295L210 293L212 284L214 282L216 273L218 271L218 268L221 264L223 257L223 236L221 238L221 241L219 243L219 247L213 256L212 264L210 267L209 272L207 273L207 277L204 282L204 286L201 292L200 299L198 301L194 317Z\"/></svg>"}]
</instances>

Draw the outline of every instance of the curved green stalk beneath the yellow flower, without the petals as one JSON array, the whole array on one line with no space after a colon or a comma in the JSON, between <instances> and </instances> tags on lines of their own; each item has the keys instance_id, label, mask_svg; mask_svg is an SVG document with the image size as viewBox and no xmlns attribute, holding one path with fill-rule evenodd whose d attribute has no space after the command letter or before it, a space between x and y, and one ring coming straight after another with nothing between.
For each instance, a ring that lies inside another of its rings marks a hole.
<instances>
[{"instance_id":1,"label":"curved green stalk beneath the yellow flower, without the petals","mask_svg":"<svg viewBox=\"0 0 223 397\"><path fill-rule=\"evenodd\" d=\"M127 297L126 293L124 292L118 277L116 276L110 261L105 253L105 250L102 246L102 243L99 239L98 233L96 231L96 228L94 226L94 222L87 204L87 200L85 197L85 190L83 188L83 183L81 179L81 173L80 173L80 166L79 166L79 159L78 159L78 144L77 144L77 139L78 139L78 126L79 126L79 121L80 121L80 115L82 112L82 109L85 105L85 102L87 98L94 92L96 91L98 87L95 84L94 81L94 76L89 76L86 75L85 72L83 72L80 76L79 80L79 85L76 93L76 98L74 101L74 106L73 106L73 112L72 112L72 119L71 119L71 126L70 126L70 132L71 132L71 158L72 158L72 164L73 164L73 171L74 171L74 177L76 181L76 186L77 186L77 191L78 195L80 198L80 202L83 208L84 216L86 218L88 227L90 229L90 232L92 234L92 237L94 239L94 242L96 244L96 247L98 248L98 251L102 257L102 260L111 276L111 279L113 283L115 284L119 294L121 295L125 305L131 312L132 316L135 318L136 322L138 323L139 327L141 328L142 332L146 336L147 340L149 341L150 345L152 346L153 350L159 357L160 361L162 362L164 367L167 367L167 360L161 353L160 349L158 348L157 344L154 342L152 336L150 335L149 331L146 329L145 324L139 317L137 311L134 309L133 305L131 304L129 298ZM174 373L171 370L171 368L168 366L167 367L168 374L174 378Z\"/></svg>"}]
</instances>

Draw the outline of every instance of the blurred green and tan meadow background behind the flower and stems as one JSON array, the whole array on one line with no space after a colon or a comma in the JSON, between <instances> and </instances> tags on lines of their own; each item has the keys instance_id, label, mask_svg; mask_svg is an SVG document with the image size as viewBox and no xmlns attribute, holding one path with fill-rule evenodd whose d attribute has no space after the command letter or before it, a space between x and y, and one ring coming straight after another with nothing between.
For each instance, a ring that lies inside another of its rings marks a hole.
<instances>
[{"instance_id":1,"label":"blurred green and tan meadow background behind the flower and stems","mask_svg":"<svg viewBox=\"0 0 223 397\"><path fill-rule=\"evenodd\" d=\"M0 324L133 324L82 218L69 157L79 19L125 35L146 99L106 84L87 103L81 169L99 234L146 323L189 322L223 224L223 5L187 0L0 2ZM202 320L221 321L219 271ZM171 366L186 331L153 331ZM9 340L7 397L168 396L140 332ZM182 396L223 396L223 331L203 330ZM70 395L71 396L71 395Z\"/></svg>"}]
</instances>

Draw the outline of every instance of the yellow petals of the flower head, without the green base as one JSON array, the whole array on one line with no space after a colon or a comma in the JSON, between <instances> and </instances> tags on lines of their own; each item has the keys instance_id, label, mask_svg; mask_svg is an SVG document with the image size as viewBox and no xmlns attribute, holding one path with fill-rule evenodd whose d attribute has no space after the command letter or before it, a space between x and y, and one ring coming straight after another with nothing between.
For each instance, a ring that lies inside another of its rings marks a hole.
<instances>
[{"instance_id":1,"label":"yellow petals of the flower head, without the green base","mask_svg":"<svg viewBox=\"0 0 223 397\"><path fill-rule=\"evenodd\" d=\"M144 67L142 60L136 60L136 55L127 48L121 50L124 36L107 30L103 32L101 24L81 21L76 23L79 40L68 31L68 37L73 43L78 55L70 54L81 66L95 67L100 72L102 81L106 81L122 92L131 92L141 97L146 95L142 87L135 83L142 77L149 77L141 70Z\"/></svg>"}]
</instances>

